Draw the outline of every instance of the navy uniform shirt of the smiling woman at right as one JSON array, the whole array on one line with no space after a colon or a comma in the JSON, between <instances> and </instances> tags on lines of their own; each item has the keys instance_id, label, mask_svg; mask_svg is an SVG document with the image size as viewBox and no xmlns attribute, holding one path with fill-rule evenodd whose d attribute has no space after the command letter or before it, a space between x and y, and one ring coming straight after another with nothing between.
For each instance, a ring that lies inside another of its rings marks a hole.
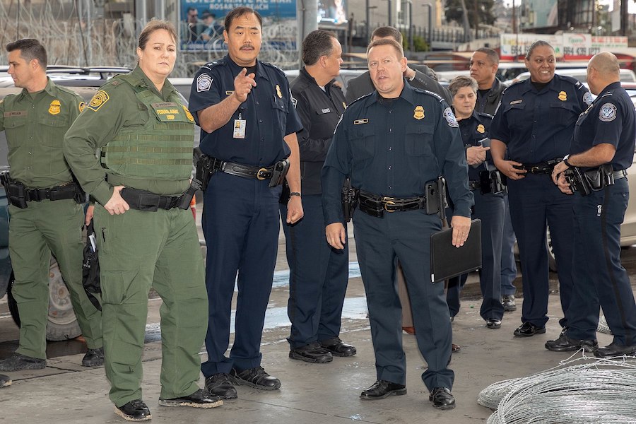
<instances>
[{"instance_id":1,"label":"navy uniform shirt of the smiling woman at right","mask_svg":"<svg viewBox=\"0 0 636 424\"><path fill-rule=\"evenodd\" d=\"M507 144L507 157L520 163L563 158L570 153L579 114L591 101L589 90L575 78L555 74L541 91L528 78L504 91L490 138Z\"/></svg>"}]
</instances>

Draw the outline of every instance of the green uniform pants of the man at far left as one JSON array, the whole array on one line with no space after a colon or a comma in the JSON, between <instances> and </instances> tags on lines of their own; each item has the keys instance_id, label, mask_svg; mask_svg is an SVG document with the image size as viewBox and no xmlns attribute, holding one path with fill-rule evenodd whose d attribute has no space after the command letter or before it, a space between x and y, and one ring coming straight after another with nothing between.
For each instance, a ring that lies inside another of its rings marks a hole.
<instances>
[{"instance_id":1,"label":"green uniform pants of the man at far left","mask_svg":"<svg viewBox=\"0 0 636 424\"><path fill-rule=\"evenodd\" d=\"M102 314L90 303L82 286L82 205L73 199L30 201L25 209L9 206L9 213L9 254L16 277L12 293L20 312L20 346L16 352L47 358L51 252L69 288L88 348L102 347Z\"/></svg>"}]
</instances>

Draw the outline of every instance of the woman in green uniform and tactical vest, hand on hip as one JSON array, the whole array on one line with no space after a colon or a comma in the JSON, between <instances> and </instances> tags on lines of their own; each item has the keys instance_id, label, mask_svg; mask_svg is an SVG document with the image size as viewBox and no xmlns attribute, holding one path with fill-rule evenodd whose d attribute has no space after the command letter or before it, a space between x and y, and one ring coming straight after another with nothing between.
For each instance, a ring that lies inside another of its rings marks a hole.
<instances>
[{"instance_id":1,"label":"woman in green uniform and tactical vest, hand on hip","mask_svg":"<svg viewBox=\"0 0 636 424\"><path fill-rule=\"evenodd\" d=\"M163 299L159 404L223 404L197 386L208 300L187 210L194 119L166 80L176 40L172 23L148 23L139 65L102 86L64 140L66 160L96 201L106 376L115 413L131 421L151 419L140 387L151 287Z\"/></svg>"}]
</instances>

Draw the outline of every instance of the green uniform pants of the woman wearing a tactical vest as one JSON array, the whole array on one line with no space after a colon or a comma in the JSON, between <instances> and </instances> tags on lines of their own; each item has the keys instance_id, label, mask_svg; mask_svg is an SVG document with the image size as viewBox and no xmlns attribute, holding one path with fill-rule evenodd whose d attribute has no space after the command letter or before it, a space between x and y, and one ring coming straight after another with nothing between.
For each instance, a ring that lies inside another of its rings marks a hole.
<instances>
[{"instance_id":1,"label":"green uniform pants of the woman wearing a tactical vest","mask_svg":"<svg viewBox=\"0 0 636 424\"><path fill-rule=\"evenodd\" d=\"M141 354L151 287L160 307L161 394L189 396L199 389L199 351L208 322L204 263L190 211L110 215L95 206L106 377L110 399L122 406L141 399Z\"/></svg>"}]
</instances>

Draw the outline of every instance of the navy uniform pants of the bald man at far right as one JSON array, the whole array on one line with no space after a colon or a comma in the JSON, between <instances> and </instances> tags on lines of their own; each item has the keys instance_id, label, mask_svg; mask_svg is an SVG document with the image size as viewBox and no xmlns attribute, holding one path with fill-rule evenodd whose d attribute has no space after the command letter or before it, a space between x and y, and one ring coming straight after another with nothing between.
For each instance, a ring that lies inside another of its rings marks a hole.
<instances>
[{"instance_id":1,"label":"navy uniform pants of the bald man at far right","mask_svg":"<svg viewBox=\"0 0 636 424\"><path fill-rule=\"evenodd\" d=\"M574 195L574 275L567 336L596 338L599 305L620 346L636 345L636 305L620 264L620 223L629 201L627 178L588 196Z\"/></svg>"}]
</instances>

